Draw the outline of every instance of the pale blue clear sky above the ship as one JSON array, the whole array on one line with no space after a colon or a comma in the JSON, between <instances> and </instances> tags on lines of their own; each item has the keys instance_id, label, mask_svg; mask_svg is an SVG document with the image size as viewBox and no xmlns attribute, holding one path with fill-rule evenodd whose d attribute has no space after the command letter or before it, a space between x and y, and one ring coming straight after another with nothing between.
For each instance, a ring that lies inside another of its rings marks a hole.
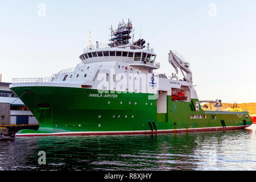
<instances>
[{"instance_id":1,"label":"pale blue clear sky above the ship","mask_svg":"<svg viewBox=\"0 0 256 182\"><path fill-rule=\"evenodd\" d=\"M170 49L189 61L200 100L256 102L254 0L1 0L2 81L49 77L75 67L88 32L93 44L108 43L111 24L116 28L122 18L133 23L135 40L142 34L154 47L158 72L175 72L168 63Z\"/></svg>"}]
</instances>

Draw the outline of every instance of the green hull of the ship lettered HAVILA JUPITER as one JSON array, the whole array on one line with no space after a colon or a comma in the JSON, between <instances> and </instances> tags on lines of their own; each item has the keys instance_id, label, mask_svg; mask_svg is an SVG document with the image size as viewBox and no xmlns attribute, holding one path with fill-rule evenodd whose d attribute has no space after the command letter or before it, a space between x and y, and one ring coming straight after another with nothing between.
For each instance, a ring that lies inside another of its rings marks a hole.
<instances>
[{"instance_id":1,"label":"green hull of the ship lettered HAVILA JUPITER","mask_svg":"<svg viewBox=\"0 0 256 182\"><path fill-rule=\"evenodd\" d=\"M204 111L197 99L172 101L167 113L157 113L157 101L147 93L98 93L96 89L60 86L11 88L39 122L38 130L16 136L179 133L244 129L252 124L247 111Z\"/></svg>"}]
</instances>

